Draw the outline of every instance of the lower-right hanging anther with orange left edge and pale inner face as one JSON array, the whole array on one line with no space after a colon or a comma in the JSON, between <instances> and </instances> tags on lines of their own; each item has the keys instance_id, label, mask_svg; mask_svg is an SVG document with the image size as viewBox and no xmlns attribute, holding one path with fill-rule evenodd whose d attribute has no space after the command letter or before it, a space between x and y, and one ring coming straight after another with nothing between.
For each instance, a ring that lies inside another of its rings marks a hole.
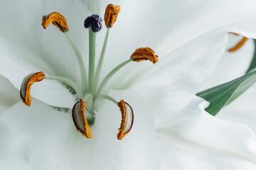
<instances>
[{"instance_id":1,"label":"lower-right hanging anther with orange left edge and pale inner face","mask_svg":"<svg viewBox=\"0 0 256 170\"><path fill-rule=\"evenodd\" d=\"M120 111L122 113L122 120L120 128L118 129L119 132L117 134L117 139L122 140L122 138L124 138L124 136L127 135L132 129L132 125L134 122L134 113L132 111L132 107L129 106L128 103L124 102L124 100L118 102L117 106L120 108Z\"/></svg>"}]
</instances>

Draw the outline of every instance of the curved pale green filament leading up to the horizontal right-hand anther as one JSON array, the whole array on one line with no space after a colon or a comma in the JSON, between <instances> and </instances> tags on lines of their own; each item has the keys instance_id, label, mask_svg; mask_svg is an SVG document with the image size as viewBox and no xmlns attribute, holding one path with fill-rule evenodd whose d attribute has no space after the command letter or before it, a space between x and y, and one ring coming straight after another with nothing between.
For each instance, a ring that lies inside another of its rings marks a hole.
<instances>
[{"instance_id":1,"label":"curved pale green filament leading up to the horizontal right-hand anther","mask_svg":"<svg viewBox=\"0 0 256 170\"><path fill-rule=\"evenodd\" d=\"M129 59L126 60L125 62L122 62L121 64L119 64L117 67L115 67L114 69L112 69L112 71L107 74L107 76L105 77L105 79L102 80L102 83L100 84L100 87L97 91L96 97L100 95L100 93L102 92L103 88L105 87L105 85L107 84L107 82L110 80L110 78L119 71L119 69L121 69L122 67L124 67L126 64L128 64L129 62L132 62L133 59Z\"/></svg>"}]
</instances>

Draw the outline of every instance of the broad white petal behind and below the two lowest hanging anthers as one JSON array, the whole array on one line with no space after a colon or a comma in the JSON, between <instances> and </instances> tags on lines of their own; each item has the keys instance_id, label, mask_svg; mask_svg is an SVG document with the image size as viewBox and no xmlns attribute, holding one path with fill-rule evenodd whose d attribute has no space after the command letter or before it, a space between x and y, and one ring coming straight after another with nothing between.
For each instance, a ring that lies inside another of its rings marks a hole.
<instances>
[{"instance_id":1,"label":"broad white petal behind and below the two lowest hanging anthers","mask_svg":"<svg viewBox=\"0 0 256 170\"><path fill-rule=\"evenodd\" d=\"M11 161L27 169L143 169L151 167L154 121L149 108L131 103L136 123L123 140L117 140L121 120L119 108L105 102L92 139L77 132L70 113L54 111L33 100L31 107L18 103L1 116L0 168L16 169ZM147 115L147 116L146 116ZM17 165L18 166L18 165Z\"/></svg>"}]
</instances>

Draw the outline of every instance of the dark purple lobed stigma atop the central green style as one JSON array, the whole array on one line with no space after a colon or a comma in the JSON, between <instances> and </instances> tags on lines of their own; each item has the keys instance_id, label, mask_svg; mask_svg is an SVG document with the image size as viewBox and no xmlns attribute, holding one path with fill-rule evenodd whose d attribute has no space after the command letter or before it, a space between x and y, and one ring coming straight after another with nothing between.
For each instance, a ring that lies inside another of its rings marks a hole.
<instances>
[{"instance_id":1,"label":"dark purple lobed stigma atop the central green style","mask_svg":"<svg viewBox=\"0 0 256 170\"><path fill-rule=\"evenodd\" d=\"M93 32L98 32L102 28L102 18L93 14L85 19L85 28L92 27Z\"/></svg>"}]
</instances>

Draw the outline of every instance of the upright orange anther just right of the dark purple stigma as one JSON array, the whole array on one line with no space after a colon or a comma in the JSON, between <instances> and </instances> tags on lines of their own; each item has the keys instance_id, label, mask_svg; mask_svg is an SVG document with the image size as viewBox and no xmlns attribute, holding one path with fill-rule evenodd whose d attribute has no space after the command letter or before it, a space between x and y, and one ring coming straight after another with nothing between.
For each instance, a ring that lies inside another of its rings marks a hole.
<instances>
[{"instance_id":1,"label":"upright orange anther just right of the dark purple stigma","mask_svg":"<svg viewBox=\"0 0 256 170\"><path fill-rule=\"evenodd\" d=\"M112 28L115 21L117 21L117 16L120 11L120 6L114 6L113 4L109 4L105 11L105 25L108 28Z\"/></svg>"}]
</instances>

